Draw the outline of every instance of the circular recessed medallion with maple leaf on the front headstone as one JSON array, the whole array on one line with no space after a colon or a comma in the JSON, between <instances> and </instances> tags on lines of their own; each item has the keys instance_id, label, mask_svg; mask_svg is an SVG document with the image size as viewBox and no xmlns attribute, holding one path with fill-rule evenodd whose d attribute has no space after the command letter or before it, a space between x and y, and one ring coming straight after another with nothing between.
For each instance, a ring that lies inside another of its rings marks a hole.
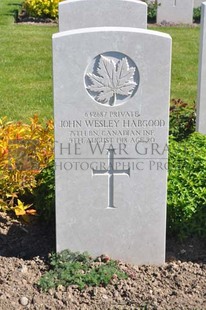
<instances>
[{"instance_id":1,"label":"circular recessed medallion with maple leaf on the front headstone","mask_svg":"<svg viewBox=\"0 0 206 310\"><path fill-rule=\"evenodd\" d=\"M139 84L136 65L124 54L101 54L85 76L86 89L98 103L115 106L134 95ZM120 56L120 55L121 56ZM90 72L92 70L92 72Z\"/></svg>"}]
</instances>

